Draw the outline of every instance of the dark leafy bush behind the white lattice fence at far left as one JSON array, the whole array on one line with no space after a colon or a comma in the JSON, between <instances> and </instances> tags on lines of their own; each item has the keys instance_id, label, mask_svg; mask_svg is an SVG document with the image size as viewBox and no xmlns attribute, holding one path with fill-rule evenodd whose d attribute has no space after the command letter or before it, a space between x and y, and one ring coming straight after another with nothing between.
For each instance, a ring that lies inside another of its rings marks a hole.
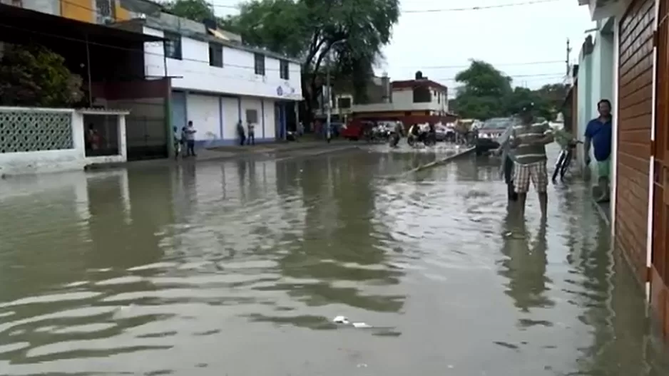
<instances>
[{"instance_id":1,"label":"dark leafy bush behind the white lattice fence at far left","mask_svg":"<svg viewBox=\"0 0 669 376\"><path fill-rule=\"evenodd\" d=\"M0 104L69 107L83 98L79 75L44 46L5 44L0 60Z\"/></svg>"}]
</instances>

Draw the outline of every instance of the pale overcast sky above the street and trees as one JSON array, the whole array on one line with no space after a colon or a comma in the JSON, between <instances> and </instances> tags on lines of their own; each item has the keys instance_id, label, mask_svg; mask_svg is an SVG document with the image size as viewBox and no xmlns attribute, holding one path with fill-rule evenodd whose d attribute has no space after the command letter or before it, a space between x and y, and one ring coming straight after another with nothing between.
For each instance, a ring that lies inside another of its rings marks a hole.
<instances>
[{"instance_id":1,"label":"pale overcast sky above the street and trees","mask_svg":"<svg viewBox=\"0 0 669 376\"><path fill-rule=\"evenodd\" d=\"M217 14L234 14L237 0L213 0ZM384 48L392 80L409 80L417 70L454 88L453 78L476 58L514 78L514 85L538 88L561 82L566 40L576 62L593 28L578 0L402 0L402 16ZM512 5L514 4L514 5ZM480 9L473 9L479 7ZM486 9L486 7L491 7ZM454 95L454 90L449 90Z\"/></svg>"}]
</instances>

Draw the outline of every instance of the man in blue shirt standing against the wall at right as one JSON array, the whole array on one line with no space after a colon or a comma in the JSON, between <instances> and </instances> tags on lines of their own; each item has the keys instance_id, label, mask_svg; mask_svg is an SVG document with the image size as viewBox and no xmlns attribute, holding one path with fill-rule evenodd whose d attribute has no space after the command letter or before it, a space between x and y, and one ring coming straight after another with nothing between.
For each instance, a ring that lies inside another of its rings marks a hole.
<instances>
[{"instance_id":1,"label":"man in blue shirt standing against the wall at right","mask_svg":"<svg viewBox=\"0 0 669 376\"><path fill-rule=\"evenodd\" d=\"M611 174L611 142L613 140L613 127L611 126L611 102L608 99L597 103L599 117L590 120L586 127L586 142L584 151L586 154L586 165L590 164L590 148L593 147L593 155L597 161L597 177L601 196L597 202L608 202L609 176Z\"/></svg>"}]
</instances>

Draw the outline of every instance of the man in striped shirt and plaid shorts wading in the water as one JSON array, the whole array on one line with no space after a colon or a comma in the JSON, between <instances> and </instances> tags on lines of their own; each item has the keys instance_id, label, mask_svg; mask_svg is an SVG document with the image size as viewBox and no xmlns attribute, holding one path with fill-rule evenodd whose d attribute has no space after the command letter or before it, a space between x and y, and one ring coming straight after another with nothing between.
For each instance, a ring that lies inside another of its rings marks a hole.
<instances>
[{"instance_id":1,"label":"man in striped shirt and plaid shorts wading in the water","mask_svg":"<svg viewBox=\"0 0 669 376\"><path fill-rule=\"evenodd\" d=\"M548 172L546 172L546 145L553 142L553 131L548 122L533 122L534 103L524 105L521 124L514 126L511 147L515 149L514 188L518 193L521 216L525 216L525 202L530 181L538 193L541 218L546 219L548 205Z\"/></svg>"}]
</instances>

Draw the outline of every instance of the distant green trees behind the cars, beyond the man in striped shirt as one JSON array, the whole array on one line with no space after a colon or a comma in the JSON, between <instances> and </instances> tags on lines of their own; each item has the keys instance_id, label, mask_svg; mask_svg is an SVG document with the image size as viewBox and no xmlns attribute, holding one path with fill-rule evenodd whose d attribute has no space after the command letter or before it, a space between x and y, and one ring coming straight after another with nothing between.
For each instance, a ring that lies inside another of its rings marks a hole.
<instances>
[{"instance_id":1,"label":"distant green trees behind the cars, beyond the man in striped shirt","mask_svg":"<svg viewBox=\"0 0 669 376\"><path fill-rule=\"evenodd\" d=\"M553 119L566 96L568 87L561 83L543 85L538 90L516 86L511 78L485 61L471 61L469 68L456 75L461 86L452 102L452 110L462 117L489 119L518 113L521 105L533 102L537 115Z\"/></svg>"}]
</instances>

